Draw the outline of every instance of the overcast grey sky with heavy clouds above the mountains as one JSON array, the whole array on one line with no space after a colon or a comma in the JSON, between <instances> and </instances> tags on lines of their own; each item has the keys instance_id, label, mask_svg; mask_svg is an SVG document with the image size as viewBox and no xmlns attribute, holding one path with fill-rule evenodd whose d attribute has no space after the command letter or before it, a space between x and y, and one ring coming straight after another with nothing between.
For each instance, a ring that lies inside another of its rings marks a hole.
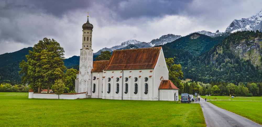
<instances>
[{"instance_id":1,"label":"overcast grey sky with heavy clouds above the mountains","mask_svg":"<svg viewBox=\"0 0 262 127\"><path fill-rule=\"evenodd\" d=\"M261 0L1 0L0 54L33 47L47 37L60 43L65 58L79 56L87 12L95 53L132 39L224 32L234 19L259 13L261 5Z\"/></svg>"}]
</instances>

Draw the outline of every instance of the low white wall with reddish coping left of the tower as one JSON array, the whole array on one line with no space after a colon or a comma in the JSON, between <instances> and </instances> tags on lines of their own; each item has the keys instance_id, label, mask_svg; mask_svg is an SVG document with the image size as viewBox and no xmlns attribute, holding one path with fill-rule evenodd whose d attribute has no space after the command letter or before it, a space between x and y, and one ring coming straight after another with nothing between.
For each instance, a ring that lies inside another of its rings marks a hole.
<instances>
[{"instance_id":1,"label":"low white wall with reddish coping left of the tower","mask_svg":"<svg viewBox=\"0 0 262 127\"><path fill-rule=\"evenodd\" d=\"M73 94L61 94L59 99L81 99L86 98L86 92L83 93L73 93ZM33 97L28 98L41 98L41 99L58 99L58 95L55 93L33 93Z\"/></svg>"}]
</instances>

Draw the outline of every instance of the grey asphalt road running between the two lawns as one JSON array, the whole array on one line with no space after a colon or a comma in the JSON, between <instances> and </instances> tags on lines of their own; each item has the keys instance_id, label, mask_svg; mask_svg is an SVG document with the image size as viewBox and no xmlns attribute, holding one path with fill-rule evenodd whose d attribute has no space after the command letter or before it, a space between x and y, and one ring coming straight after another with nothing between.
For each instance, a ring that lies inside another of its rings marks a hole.
<instances>
[{"instance_id":1,"label":"grey asphalt road running between the two lawns","mask_svg":"<svg viewBox=\"0 0 262 127\"><path fill-rule=\"evenodd\" d=\"M205 102L203 98L200 98L200 102L197 103L201 105L207 127L261 127L260 124L245 117L226 111L210 102Z\"/></svg>"}]
</instances>

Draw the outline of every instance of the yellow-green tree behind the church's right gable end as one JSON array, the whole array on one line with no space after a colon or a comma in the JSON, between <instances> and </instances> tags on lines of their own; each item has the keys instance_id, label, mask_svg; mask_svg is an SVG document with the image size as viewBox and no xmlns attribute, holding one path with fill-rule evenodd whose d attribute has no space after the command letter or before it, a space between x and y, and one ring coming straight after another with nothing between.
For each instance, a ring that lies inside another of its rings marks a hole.
<instances>
[{"instance_id":1,"label":"yellow-green tree behind the church's right gable end","mask_svg":"<svg viewBox=\"0 0 262 127\"><path fill-rule=\"evenodd\" d=\"M183 78L183 72L181 70L182 67L180 64L174 64L174 58L168 58L168 59L165 58L165 60L166 60L167 69L169 71L168 77L173 82L174 85L178 86L181 82L179 77Z\"/></svg>"}]
</instances>

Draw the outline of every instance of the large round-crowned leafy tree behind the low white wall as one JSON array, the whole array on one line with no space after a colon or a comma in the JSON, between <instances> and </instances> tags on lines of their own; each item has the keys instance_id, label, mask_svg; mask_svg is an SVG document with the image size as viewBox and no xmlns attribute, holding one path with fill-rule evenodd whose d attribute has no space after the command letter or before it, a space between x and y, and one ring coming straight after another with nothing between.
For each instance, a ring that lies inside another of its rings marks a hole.
<instances>
[{"instance_id":1,"label":"large round-crowned leafy tree behind the low white wall","mask_svg":"<svg viewBox=\"0 0 262 127\"><path fill-rule=\"evenodd\" d=\"M29 83L34 91L49 89L56 79L64 79L64 48L54 39L43 38L26 55L27 62L20 62L22 83Z\"/></svg>"}]
</instances>

